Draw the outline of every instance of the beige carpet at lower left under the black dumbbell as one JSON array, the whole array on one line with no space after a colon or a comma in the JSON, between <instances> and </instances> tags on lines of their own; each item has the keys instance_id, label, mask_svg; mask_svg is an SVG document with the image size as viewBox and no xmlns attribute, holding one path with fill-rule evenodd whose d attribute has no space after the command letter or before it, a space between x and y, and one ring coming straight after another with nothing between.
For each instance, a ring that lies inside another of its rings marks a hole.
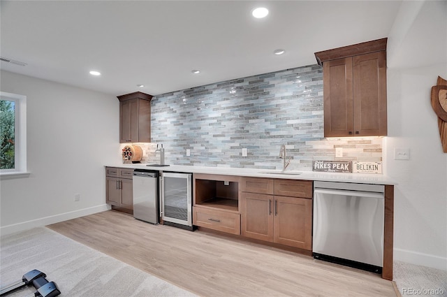
<instances>
[{"instance_id":1,"label":"beige carpet at lower left under the black dumbbell","mask_svg":"<svg viewBox=\"0 0 447 297\"><path fill-rule=\"evenodd\" d=\"M41 270L61 296L196 296L45 227L1 237L0 283ZM27 287L8 297L30 296Z\"/></svg>"}]
</instances>

